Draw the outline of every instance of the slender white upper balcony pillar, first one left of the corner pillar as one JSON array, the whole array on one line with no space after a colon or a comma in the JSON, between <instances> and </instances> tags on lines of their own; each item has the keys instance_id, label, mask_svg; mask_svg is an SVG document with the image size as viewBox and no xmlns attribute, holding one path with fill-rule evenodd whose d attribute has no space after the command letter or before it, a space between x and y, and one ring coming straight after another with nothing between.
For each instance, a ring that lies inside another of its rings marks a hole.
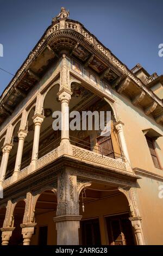
<instances>
[{"instance_id":1,"label":"slender white upper balcony pillar, first one left of the corner pillar","mask_svg":"<svg viewBox=\"0 0 163 256\"><path fill-rule=\"evenodd\" d=\"M35 169L35 163L39 153L40 130L41 130L41 124L44 118L45 117L41 114L35 114L33 117L33 121L35 124L35 131L34 131L32 161L31 161L32 170Z\"/></svg>"}]
</instances>

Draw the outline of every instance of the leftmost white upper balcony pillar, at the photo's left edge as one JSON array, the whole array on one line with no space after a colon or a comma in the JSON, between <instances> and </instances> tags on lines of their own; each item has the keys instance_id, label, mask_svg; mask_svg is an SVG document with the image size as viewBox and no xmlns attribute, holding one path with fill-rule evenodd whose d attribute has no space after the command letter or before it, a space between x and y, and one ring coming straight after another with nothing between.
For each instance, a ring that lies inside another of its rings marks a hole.
<instances>
[{"instance_id":1,"label":"leftmost white upper balcony pillar, at the photo's left edge","mask_svg":"<svg viewBox=\"0 0 163 256\"><path fill-rule=\"evenodd\" d=\"M2 147L3 156L2 156L1 168L0 168L0 185L2 184L2 181L4 179L4 176L7 170L9 154L12 149L12 146L13 146L12 144L7 143Z\"/></svg>"}]
</instances>

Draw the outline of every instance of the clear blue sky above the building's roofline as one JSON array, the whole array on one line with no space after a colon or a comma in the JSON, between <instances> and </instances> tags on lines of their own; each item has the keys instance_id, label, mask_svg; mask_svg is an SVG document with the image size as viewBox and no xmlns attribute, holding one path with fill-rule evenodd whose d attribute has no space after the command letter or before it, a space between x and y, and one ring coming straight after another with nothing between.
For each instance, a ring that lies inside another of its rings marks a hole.
<instances>
[{"instance_id":1,"label":"clear blue sky above the building's roofline","mask_svg":"<svg viewBox=\"0 0 163 256\"><path fill-rule=\"evenodd\" d=\"M0 0L0 68L15 74L61 6L130 69L140 63L163 74L162 0ZM0 95L12 76L0 70Z\"/></svg>"}]
</instances>

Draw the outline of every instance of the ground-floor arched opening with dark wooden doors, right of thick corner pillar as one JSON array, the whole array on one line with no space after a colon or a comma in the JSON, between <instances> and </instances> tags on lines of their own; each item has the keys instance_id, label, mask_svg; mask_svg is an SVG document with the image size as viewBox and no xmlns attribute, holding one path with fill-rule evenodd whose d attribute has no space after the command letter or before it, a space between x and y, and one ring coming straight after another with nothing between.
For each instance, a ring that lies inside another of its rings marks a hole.
<instances>
[{"instance_id":1,"label":"ground-floor arched opening with dark wooden doors, right of thick corner pillar","mask_svg":"<svg viewBox=\"0 0 163 256\"><path fill-rule=\"evenodd\" d=\"M79 201L80 245L136 244L128 200L116 185L92 182Z\"/></svg>"}]
</instances>

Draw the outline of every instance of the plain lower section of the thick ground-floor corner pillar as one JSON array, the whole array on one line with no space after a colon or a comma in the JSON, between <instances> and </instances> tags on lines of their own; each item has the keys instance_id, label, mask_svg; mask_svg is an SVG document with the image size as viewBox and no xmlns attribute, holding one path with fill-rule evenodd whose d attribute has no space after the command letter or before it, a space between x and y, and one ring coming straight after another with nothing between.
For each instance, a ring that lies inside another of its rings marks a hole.
<instances>
[{"instance_id":1,"label":"plain lower section of the thick ground-floor corner pillar","mask_svg":"<svg viewBox=\"0 0 163 256\"><path fill-rule=\"evenodd\" d=\"M57 245L79 245L79 227L82 215L62 215L53 218L56 222Z\"/></svg>"}]
</instances>

